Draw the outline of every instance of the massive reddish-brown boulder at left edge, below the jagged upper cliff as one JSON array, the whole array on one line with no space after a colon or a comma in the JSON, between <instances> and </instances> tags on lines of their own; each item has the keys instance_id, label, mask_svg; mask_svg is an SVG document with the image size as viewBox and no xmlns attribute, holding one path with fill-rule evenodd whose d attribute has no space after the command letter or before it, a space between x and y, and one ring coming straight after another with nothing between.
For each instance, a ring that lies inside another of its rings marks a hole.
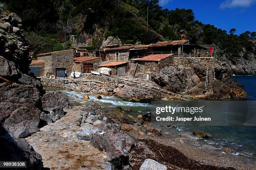
<instances>
[{"instance_id":1,"label":"massive reddish-brown boulder at left edge, below the jagged upper cliff","mask_svg":"<svg viewBox=\"0 0 256 170\"><path fill-rule=\"evenodd\" d=\"M38 89L23 84L0 84L0 124L8 133L27 127L29 133L38 132L41 113Z\"/></svg>"}]
</instances>

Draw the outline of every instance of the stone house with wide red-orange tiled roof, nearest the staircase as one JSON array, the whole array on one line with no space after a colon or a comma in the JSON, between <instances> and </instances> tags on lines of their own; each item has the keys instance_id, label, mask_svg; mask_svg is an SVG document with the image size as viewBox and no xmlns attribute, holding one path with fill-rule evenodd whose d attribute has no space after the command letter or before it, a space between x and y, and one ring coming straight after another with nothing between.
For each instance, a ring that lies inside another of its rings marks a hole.
<instances>
[{"instance_id":1,"label":"stone house with wide red-orange tiled roof, nearest the staircase","mask_svg":"<svg viewBox=\"0 0 256 170\"><path fill-rule=\"evenodd\" d=\"M142 58L133 59L131 62L131 70L134 70L137 63L136 74L146 75L152 72L158 72L165 66L171 66L174 58L173 54L153 54Z\"/></svg>"}]
</instances>

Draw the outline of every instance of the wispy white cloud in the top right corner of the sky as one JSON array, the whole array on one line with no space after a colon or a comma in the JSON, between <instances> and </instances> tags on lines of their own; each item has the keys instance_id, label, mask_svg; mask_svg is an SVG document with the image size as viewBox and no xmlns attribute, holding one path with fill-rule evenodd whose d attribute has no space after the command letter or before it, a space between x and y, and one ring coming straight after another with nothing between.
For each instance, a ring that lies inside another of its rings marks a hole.
<instances>
[{"instance_id":1,"label":"wispy white cloud in the top right corner of the sky","mask_svg":"<svg viewBox=\"0 0 256 170\"><path fill-rule=\"evenodd\" d=\"M224 0L224 2L220 4L220 8L246 8L250 7L253 3L256 3L256 0Z\"/></svg>"}]
</instances>

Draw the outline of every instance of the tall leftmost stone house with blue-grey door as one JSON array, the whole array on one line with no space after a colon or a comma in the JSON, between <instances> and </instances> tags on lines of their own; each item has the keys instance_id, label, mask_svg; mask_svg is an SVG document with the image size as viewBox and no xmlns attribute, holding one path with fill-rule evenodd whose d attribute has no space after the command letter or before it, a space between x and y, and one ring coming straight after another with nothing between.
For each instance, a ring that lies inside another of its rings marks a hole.
<instances>
[{"instance_id":1,"label":"tall leftmost stone house with blue-grey door","mask_svg":"<svg viewBox=\"0 0 256 170\"><path fill-rule=\"evenodd\" d=\"M37 55L37 60L44 62L43 76L54 75L64 77L64 72L70 75L74 63L74 50L54 51Z\"/></svg>"}]
</instances>

